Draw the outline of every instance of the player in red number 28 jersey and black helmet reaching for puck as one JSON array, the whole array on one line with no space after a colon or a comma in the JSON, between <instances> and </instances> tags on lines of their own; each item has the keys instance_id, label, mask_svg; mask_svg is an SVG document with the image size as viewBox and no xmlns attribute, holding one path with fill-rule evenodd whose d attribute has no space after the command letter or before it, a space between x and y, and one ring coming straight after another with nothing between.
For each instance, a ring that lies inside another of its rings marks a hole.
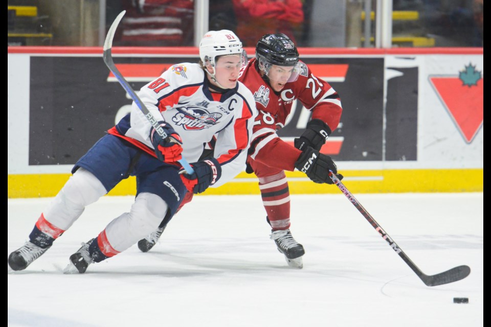
<instances>
[{"instance_id":1,"label":"player in red number 28 jersey and black helmet reaching for puck","mask_svg":"<svg viewBox=\"0 0 491 327\"><path fill-rule=\"evenodd\" d=\"M256 45L256 58L242 69L239 80L253 92L258 109L247 171L254 172L259 179L266 220L272 228L271 239L289 266L302 268L305 251L289 230L290 197L284 171L297 168L316 183L331 184L329 170L343 178L332 159L319 152L338 127L342 112L340 98L327 82L319 80L299 60L295 44L284 34L261 37ZM297 99L312 115L303 134L295 139L295 146L291 146L276 132L285 125ZM157 231L142 239L138 243L140 250L148 251L164 228L165 224L161 224Z\"/></svg>"}]
</instances>

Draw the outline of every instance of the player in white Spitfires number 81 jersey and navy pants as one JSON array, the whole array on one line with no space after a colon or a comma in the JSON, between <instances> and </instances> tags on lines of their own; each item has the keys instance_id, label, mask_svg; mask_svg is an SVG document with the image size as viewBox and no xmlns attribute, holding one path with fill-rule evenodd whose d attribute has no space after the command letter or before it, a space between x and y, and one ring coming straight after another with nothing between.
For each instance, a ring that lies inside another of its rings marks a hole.
<instances>
[{"instance_id":1,"label":"player in white Spitfires number 81 jersey and navy pants","mask_svg":"<svg viewBox=\"0 0 491 327\"><path fill-rule=\"evenodd\" d=\"M135 103L108 134L82 156L73 175L41 213L29 241L10 253L12 270L26 269L97 201L121 180L136 176L135 202L96 237L70 256L66 273L84 273L88 265L114 256L154 231L175 214L187 192L204 192L242 171L251 143L256 107L251 91L238 82L247 61L231 31L207 32L199 45L200 63L170 67L143 86L139 97L161 120L163 139ZM216 137L215 155L199 160ZM187 174L178 160L191 162Z\"/></svg>"}]
</instances>

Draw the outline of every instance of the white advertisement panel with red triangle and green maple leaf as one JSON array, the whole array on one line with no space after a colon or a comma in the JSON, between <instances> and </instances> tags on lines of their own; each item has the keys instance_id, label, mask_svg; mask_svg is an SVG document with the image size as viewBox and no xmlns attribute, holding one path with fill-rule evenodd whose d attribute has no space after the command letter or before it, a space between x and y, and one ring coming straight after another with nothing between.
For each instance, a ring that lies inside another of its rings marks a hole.
<instances>
[{"instance_id":1,"label":"white advertisement panel with red triangle and green maple leaf","mask_svg":"<svg viewBox=\"0 0 491 327\"><path fill-rule=\"evenodd\" d=\"M421 160L438 162L443 157L457 168L482 167L483 57L449 55L424 59L421 100L433 110L421 111Z\"/></svg>"}]
</instances>

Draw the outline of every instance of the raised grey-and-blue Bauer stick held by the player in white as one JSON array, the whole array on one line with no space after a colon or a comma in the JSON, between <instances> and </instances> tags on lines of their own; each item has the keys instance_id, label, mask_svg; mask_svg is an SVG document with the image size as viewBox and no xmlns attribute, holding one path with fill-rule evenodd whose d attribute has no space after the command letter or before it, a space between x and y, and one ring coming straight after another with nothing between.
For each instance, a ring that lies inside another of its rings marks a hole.
<instances>
[{"instance_id":1,"label":"raised grey-and-blue Bauer stick held by the player in white","mask_svg":"<svg viewBox=\"0 0 491 327\"><path fill-rule=\"evenodd\" d=\"M167 138L168 135L162 128L162 126L159 125L157 119L152 115L152 113L147 109L145 104L140 100L140 98L137 96L135 91L131 88L131 86L128 84L128 82L124 79L123 75L119 72L118 68L114 64L113 61L113 56L111 55L111 48L113 46L113 38L114 34L116 33L116 28L119 25L119 22L123 18L124 14L126 13L126 10L123 10L122 12L119 13L118 17L113 22L113 25L109 28L109 31L107 32L106 35L106 40L104 41L104 63L106 64L107 68L116 76L118 79L118 82L123 86L123 88L128 92L129 96L133 101L135 101L136 105L140 110L143 112L145 115L145 118L150 122L150 124L153 126L155 131L162 137L162 138ZM180 164L183 166L183 168L186 170L186 173L192 174L194 173L194 170L191 166L189 166L188 161L186 161L185 158L182 158L181 160L178 160Z\"/></svg>"}]
</instances>

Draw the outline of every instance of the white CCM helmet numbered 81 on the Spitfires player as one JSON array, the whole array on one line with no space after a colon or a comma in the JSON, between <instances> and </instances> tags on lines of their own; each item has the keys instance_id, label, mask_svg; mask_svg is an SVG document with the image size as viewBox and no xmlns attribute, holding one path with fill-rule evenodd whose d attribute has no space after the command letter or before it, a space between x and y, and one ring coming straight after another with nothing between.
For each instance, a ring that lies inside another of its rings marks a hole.
<instances>
[{"instance_id":1,"label":"white CCM helmet numbered 81 on the Spitfires player","mask_svg":"<svg viewBox=\"0 0 491 327\"><path fill-rule=\"evenodd\" d=\"M199 42L199 58L204 65L208 63L215 67L215 59L224 55L243 55L242 42L229 30L209 31L206 32L201 42ZM247 61L247 56L245 56Z\"/></svg>"}]
</instances>

